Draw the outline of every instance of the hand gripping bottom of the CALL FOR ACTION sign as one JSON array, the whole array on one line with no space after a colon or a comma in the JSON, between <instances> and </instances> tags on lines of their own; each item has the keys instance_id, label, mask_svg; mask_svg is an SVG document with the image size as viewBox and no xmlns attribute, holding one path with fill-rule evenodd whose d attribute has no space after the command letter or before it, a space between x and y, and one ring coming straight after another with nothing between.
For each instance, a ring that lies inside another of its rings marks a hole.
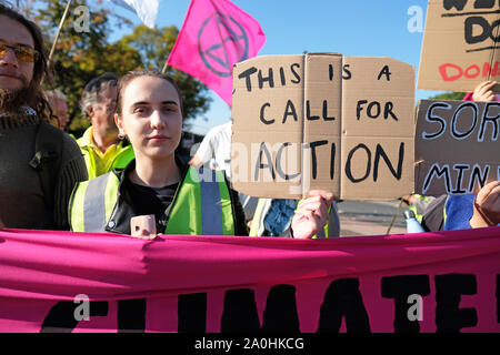
<instances>
[{"instance_id":1,"label":"hand gripping bottom of the CALL FOR ACTION sign","mask_svg":"<svg viewBox=\"0 0 500 355\"><path fill-rule=\"evenodd\" d=\"M293 214L291 229L293 237L310 239L324 227L333 194L323 190L312 190L302 200Z\"/></svg>"}]
</instances>

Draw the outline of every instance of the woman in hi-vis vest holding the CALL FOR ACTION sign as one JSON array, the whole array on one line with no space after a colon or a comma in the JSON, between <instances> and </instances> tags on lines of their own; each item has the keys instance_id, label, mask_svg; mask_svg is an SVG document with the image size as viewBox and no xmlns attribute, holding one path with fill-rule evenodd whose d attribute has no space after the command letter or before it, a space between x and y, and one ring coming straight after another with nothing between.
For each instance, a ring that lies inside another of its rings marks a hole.
<instances>
[{"instance_id":1,"label":"woman in hi-vis vest holding the CALL FOR ACTION sign","mask_svg":"<svg viewBox=\"0 0 500 355\"><path fill-rule=\"evenodd\" d=\"M183 114L170 77L141 71L121 78L114 121L136 159L77 185L69 206L72 231L130 235L132 217L153 215L162 234L248 235L238 193L223 172L189 166L174 154ZM311 237L323 227L332 200L311 191L296 211L293 236Z\"/></svg>"}]
</instances>

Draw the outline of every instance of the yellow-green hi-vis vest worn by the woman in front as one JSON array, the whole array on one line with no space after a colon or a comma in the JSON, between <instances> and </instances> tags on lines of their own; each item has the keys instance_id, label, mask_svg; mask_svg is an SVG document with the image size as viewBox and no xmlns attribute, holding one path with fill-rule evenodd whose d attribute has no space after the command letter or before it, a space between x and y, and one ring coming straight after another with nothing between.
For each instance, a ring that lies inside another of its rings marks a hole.
<instances>
[{"instance_id":1,"label":"yellow-green hi-vis vest worn by the woman in front","mask_svg":"<svg viewBox=\"0 0 500 355\"><path fill-rule=\"evenodd\" d=\"M120 186L113 172L80 182L70 200L74 232L106 232L112 221ZM229 187L221 171L190 166L167 209L164 234L234 235Z\"/></svg>"}]
</instances>

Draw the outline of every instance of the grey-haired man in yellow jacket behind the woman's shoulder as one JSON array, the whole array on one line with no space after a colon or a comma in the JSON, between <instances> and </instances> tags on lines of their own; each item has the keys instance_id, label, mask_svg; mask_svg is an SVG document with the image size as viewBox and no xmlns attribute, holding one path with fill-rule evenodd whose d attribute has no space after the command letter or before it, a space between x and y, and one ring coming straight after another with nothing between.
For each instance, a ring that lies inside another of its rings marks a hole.
<instances>
[{"instance_id":1,"label":"grey-haired man in yellow jacket behind the woman's shoulder","mask_svg":"<svg viewBox=\"0 0 500 355\"><path fill-rule=\"evenodd\" d=\"M83 89L80 106L91 125L77 140L83 153L89 179L113 168L124 168L133 159L133 149L120 136L114 124L118 77L104 73Z\"/></svg>"}]
</instances>

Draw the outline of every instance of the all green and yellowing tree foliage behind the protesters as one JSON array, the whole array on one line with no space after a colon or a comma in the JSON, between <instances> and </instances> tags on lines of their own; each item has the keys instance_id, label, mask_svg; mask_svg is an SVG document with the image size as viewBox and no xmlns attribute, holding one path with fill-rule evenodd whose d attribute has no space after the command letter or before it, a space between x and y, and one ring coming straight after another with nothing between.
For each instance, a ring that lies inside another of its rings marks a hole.
<instances>
[{"instance_id":1,"label":"all green and yellowing tree foliage behind the protesters","mask_svg":"<svg viewBox=\"0 0 500 355\"><path fill-rule=\"evenodd\" d=\"M26 6L23 9L41 27L48 53L66 6L67 1L42 0L37 1L37 6ZM78 31L76 26L82 23L82 12L76 11L80 6L89 10L88 31ZM81 132L90 124L80 110L79 101L84 85L91 79L104 72L123 75L128 71L144 68L161 70L179 33L173 26L153 30L138 26L132 34L110 43L109 36L113 29L131 27L130 20L110 11L113 7L110 2L100 0L73 0L59 36L51 60L53 87L68 98L71 132ZM178 70L170 69L168 73L177 80L183 94L186 119L207 112L210 102L208 88ZM47 85L47 89L52 88Z\"/></svg>"}]
</instances>

